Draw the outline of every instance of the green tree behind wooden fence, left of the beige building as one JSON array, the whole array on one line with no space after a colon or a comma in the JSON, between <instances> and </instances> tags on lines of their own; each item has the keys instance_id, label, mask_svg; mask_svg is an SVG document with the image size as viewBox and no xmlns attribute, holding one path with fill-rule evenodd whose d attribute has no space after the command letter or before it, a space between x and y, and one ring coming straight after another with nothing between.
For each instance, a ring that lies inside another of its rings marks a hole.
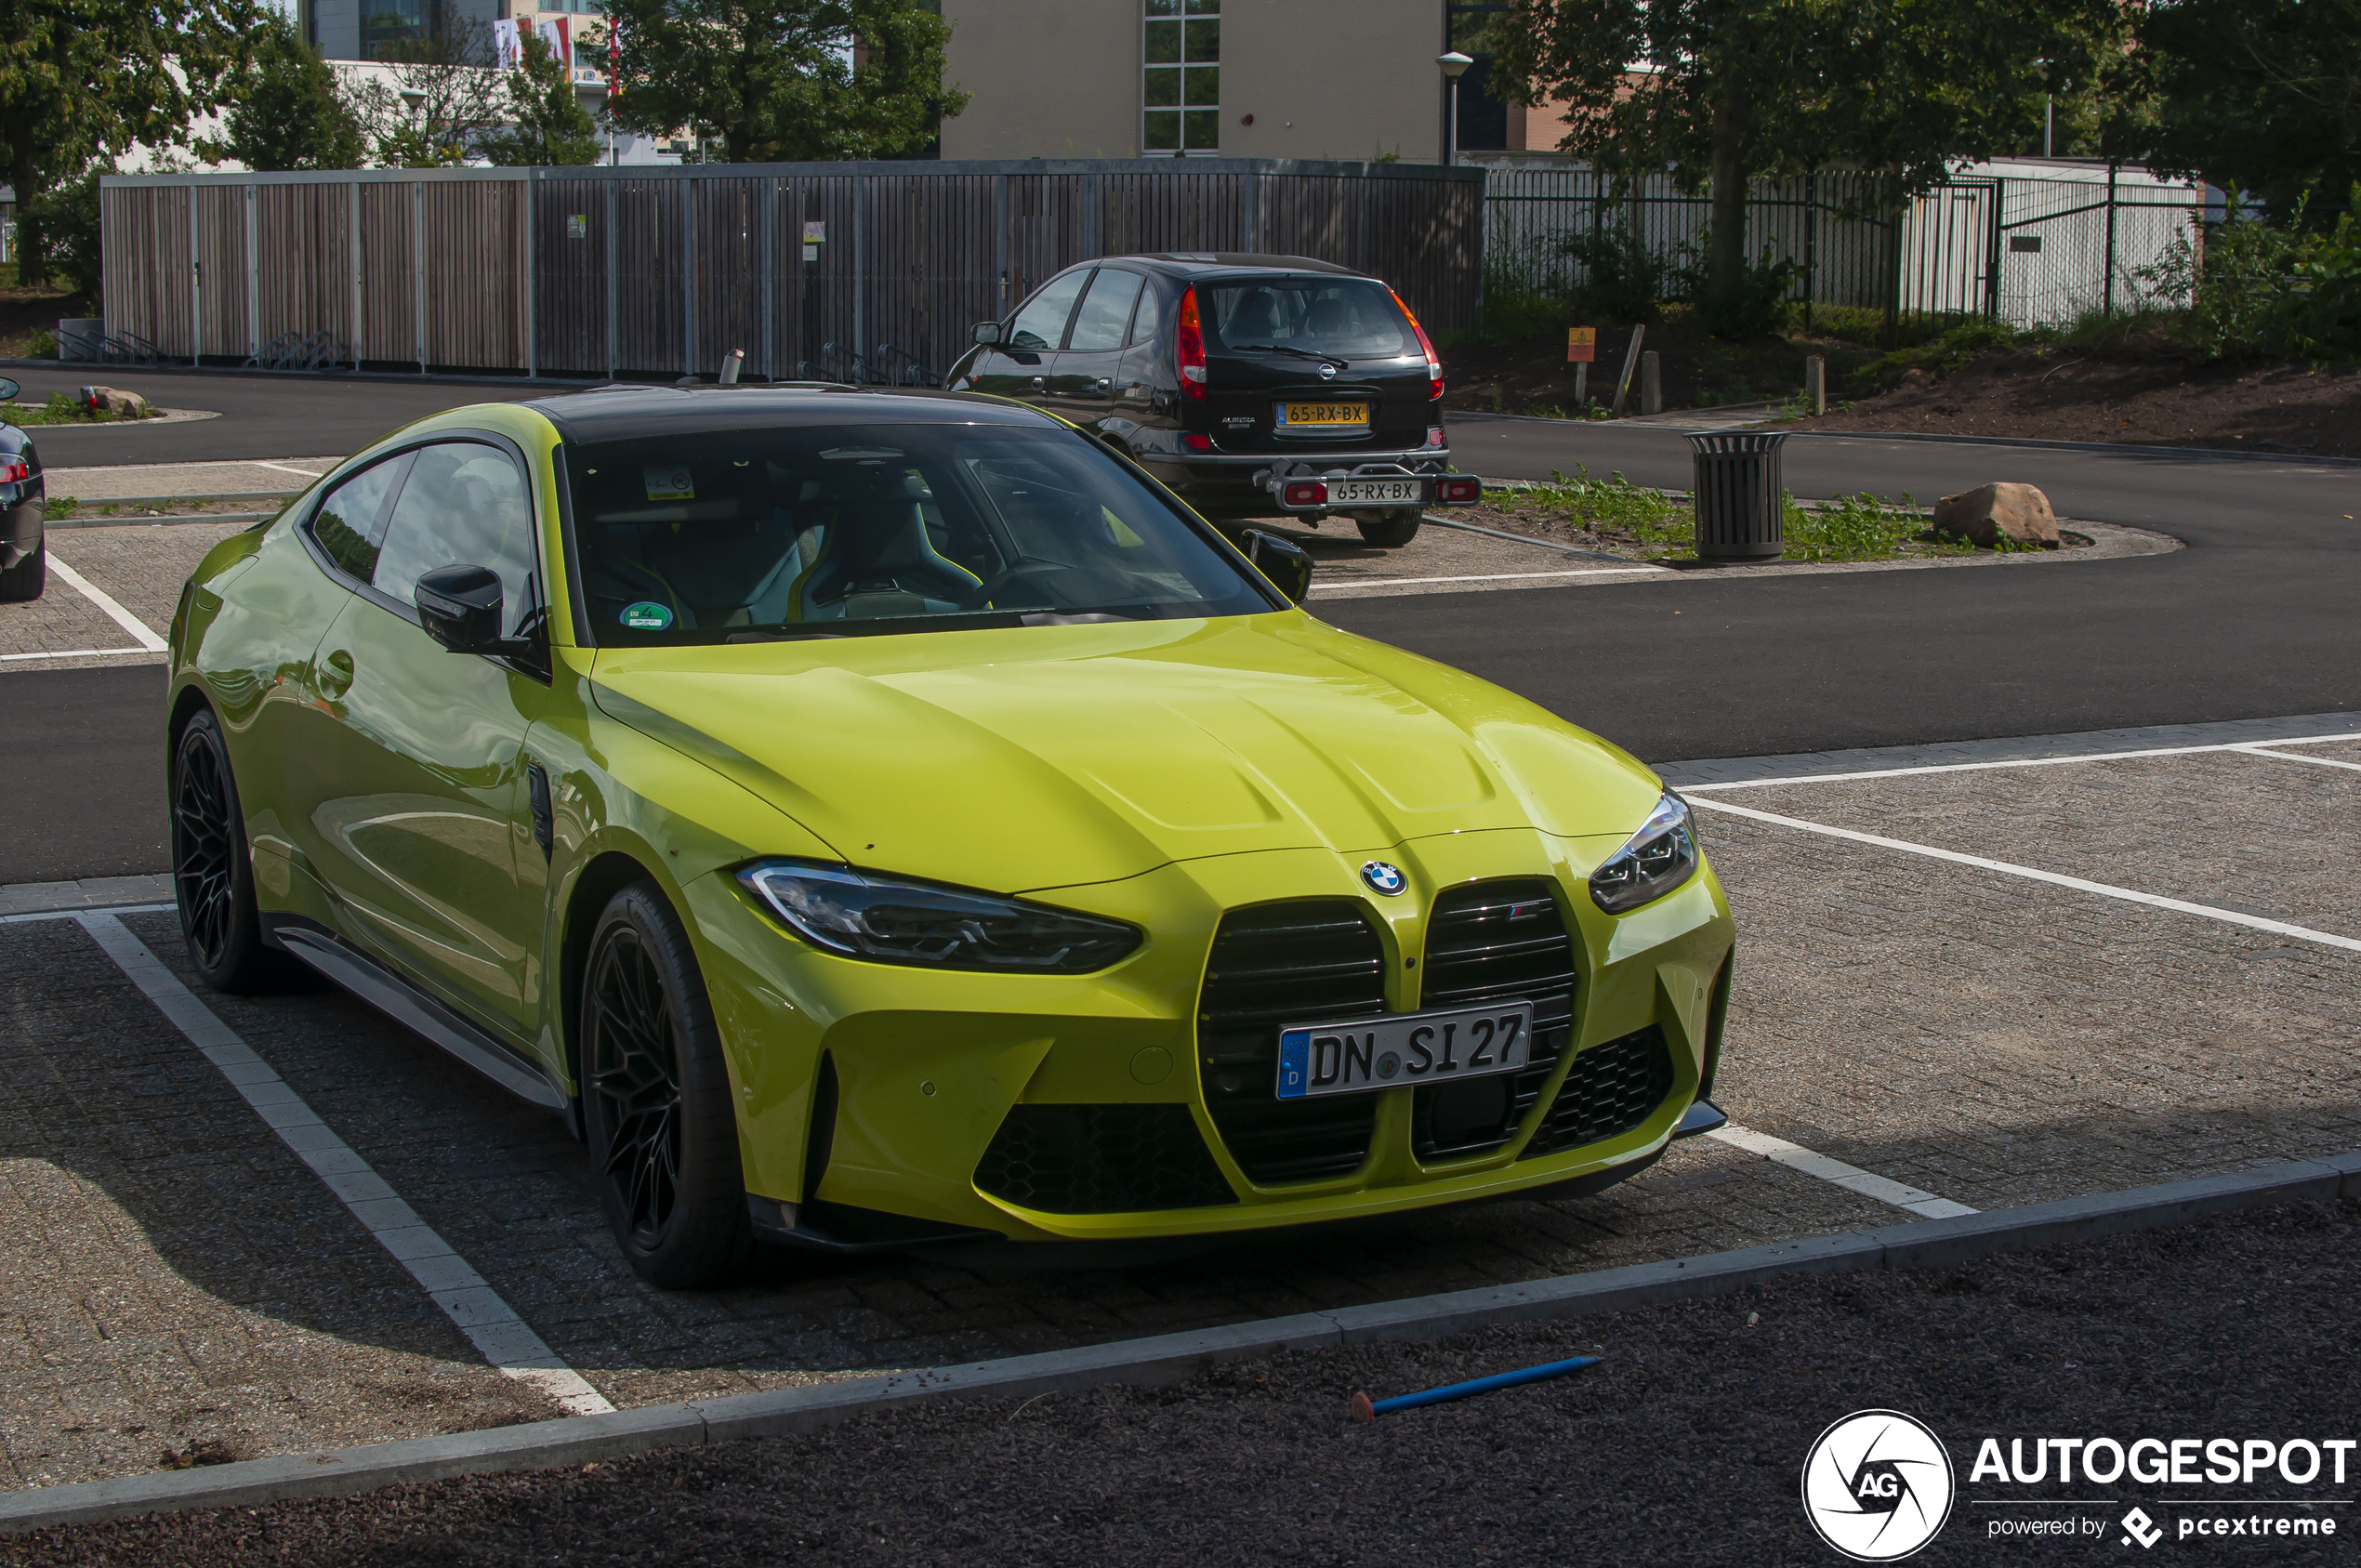
<instances>
[{"instance_id":1,"label":"green tree behind wooden fence, left of the beige building","mask_svg":"<svg viewBox=\"0 0 2361 1568\"><path fill-rule=\"evenodd\" d=\"M921 0L611 0L616 125L682 125L727 163L885 158L968 104L942 85L951 28Z\"/></svg>"}]
</instances>

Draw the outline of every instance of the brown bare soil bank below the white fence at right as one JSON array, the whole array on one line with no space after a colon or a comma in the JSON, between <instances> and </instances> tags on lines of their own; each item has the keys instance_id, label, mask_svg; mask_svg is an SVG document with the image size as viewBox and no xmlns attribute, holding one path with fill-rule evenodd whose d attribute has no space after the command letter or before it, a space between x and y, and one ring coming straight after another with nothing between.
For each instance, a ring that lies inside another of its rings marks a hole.
<instances>
[{"instance_id":1,"label":"brown bare soil bank below the white fence at right","mask_svg":"<svg viewBox=\"0 0 2361 1568\"><path fill-rule=\"evenodd\" d=\"M1997 349L1775 430L1910 430L2361 458L2361 368Z\"/></svg>"}]
</instances>

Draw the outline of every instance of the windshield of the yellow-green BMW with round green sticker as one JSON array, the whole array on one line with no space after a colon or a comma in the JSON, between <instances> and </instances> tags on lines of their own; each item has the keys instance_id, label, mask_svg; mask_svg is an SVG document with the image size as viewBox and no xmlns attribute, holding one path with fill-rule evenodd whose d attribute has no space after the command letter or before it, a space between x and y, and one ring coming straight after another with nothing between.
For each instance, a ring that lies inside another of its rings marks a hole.
<instances>
[{"instance_id":1,"label":"windshield of the yellow-green BMW with round green sticker","mask_svg":"<svg viewBox=\"0 0 2361 1568\"><path fill-rule=\"evenodd\" d=\"M567 449L607 647L1261 614L1277 605L1065 430L803 425Z\"/></svg>"}]
</instances>

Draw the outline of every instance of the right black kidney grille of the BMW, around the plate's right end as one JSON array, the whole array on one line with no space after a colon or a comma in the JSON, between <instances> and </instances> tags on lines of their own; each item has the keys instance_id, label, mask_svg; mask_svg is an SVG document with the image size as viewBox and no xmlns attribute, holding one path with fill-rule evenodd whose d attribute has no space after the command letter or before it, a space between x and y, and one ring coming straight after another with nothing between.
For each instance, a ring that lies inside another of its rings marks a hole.
<instances>
[{"instance_id":1,"label":"right black kidney grille of the BMW, around the plate's right end","mask_svg":"<svg viewBox=\"0 0 2361 1568\"><path fill-rule=\"evenodd\" d=\"M1485 881L1450 888L1426 921L1426 980L1421 1008L1480 1006L1525 997L1532 1001L1532 1060L1509 1074L1509 1096L1497 1122L1478 1129L1443 1115L1443 1096L1466 1093L1452 1084L1428 1084L1412 1096L1410 1136L1419 1159L1476 1155L1506 1143L1549 1082L1551 1067L1575 1023L1575 945L1551 883L1537 878Z\"/></svg>"}]
</instances>

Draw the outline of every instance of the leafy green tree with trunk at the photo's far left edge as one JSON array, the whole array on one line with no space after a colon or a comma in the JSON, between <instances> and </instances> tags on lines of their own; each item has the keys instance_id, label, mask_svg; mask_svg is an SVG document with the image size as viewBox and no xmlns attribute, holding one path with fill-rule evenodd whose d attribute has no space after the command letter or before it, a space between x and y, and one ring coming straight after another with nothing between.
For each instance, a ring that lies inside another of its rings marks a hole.
<instances>
[{"instance_id":1,"label":"leafy green tree with trunk at the photo's far left edge","mask_svg":"<svg viewBox=\"0 0 2361 1568\"><path fill-rule=\"evenodd\" d=\"M227 99L253 26L250 0L0 5L0 149L17 187L19 281L50 276L42 194L135 144L184 146L189 120Z\"/></svg>"}]
</instances>

